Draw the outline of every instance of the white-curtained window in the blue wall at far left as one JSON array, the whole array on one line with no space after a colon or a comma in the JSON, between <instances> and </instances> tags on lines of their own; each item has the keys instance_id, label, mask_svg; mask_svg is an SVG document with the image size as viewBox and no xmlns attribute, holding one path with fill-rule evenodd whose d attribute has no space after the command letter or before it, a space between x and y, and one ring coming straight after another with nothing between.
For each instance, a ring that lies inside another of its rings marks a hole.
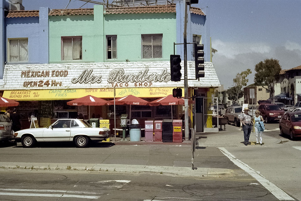
<instances>
[{"instance_id":1,"label":"white-curtained window in the blue wall at far left","mask_svg":"<svg viewBox=\"0 0 301 201\"><path fill-rule=\"evenodd\" d=\"M28 38L8 39L8 61L28 61Z\"/></svg>"}]
</instances>

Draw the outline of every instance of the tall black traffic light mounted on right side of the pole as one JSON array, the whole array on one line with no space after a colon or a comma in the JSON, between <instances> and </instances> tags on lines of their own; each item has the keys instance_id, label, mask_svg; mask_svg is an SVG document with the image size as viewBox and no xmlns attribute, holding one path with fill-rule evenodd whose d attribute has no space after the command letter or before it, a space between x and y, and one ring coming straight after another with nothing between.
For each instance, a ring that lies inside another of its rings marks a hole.
<instances>
[{"instance_id":1,"label":"tall black traffic light mounted on right side of the pole","mask_svg":"<svg viewBox=\"0 0 301 201\"><path fill-rule=\"evenodd\" d=\"M204 45L194 43L194 60L195 60L195 78L205 77L204 72Z\"/></svg>"}]
</instances>

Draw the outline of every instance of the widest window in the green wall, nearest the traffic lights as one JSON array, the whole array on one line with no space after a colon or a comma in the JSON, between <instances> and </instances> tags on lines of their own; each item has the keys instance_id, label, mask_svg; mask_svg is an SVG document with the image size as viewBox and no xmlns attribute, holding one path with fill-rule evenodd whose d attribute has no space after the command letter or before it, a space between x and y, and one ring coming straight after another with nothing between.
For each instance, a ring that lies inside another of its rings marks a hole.
<instances>
[{"instance_id":1,"label":"widest window in the green wall, nearest the traffic lights","mask_svg":"<svg viewBox=\"0 0 301 201\"><path fill-rule=\"evenodd\" d=\"M142 58L162 58L162 34L141 35Z\"/></svg>"}]
</instances>

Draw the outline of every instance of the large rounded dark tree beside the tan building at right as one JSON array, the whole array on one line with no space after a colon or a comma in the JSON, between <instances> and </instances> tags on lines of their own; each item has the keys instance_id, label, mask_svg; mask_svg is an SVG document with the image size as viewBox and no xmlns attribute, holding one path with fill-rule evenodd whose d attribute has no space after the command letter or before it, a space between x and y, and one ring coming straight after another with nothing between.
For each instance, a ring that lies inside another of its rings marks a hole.
<instances>
[{"instance_id":1,"label":"large rounded dark tree beside the tan building at right","mask_svg":"<svg viewBox=\"0 0 301 201\"><path fill-rule=\"evenodd\" d=\"M255 65L254 83L270 91L270 99L275 90L274 84L280 77L281 66L277 59L265 59ZM267 86L267 88L265 87Z\"/></svg>"}]
</instances>

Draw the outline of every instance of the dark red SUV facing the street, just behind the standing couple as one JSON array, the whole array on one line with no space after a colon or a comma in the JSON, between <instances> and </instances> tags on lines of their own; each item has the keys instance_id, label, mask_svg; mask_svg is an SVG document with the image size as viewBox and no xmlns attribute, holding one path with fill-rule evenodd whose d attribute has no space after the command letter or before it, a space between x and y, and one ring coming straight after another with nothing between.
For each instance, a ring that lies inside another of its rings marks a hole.
<instances>
[{"instance_id":1,"label":"dark red SUV facing the street, just behind the standing couple","mask_svg":"<svg viewBox=\"0 0 301 201\"><path fill-rule=\"evenodd\" d=\"M266 123L280 120L284 114L284 110L276 104L262 103L258 110Z\"/></svg>"}]
</instances>

